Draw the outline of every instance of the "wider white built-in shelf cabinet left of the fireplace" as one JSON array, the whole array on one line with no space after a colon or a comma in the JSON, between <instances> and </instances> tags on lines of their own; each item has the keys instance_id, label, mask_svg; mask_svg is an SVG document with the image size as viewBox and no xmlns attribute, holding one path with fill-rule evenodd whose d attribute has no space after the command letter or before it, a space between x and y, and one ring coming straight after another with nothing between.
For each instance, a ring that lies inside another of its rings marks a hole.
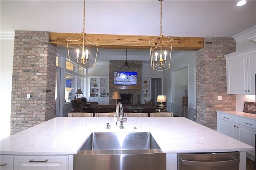
<instances>
[{"instance_id":1,"label":"wider white built-in shelf cabinet left of the fireplace","mask_svg":"<svg viewBox=\"0 0 256 170\"><path fill-rule=\"evenodd\" d=\"M109 95L109 78L92 77L90 78L90 102L98 104L108 104Z\"/></svg>"}]
</instances>

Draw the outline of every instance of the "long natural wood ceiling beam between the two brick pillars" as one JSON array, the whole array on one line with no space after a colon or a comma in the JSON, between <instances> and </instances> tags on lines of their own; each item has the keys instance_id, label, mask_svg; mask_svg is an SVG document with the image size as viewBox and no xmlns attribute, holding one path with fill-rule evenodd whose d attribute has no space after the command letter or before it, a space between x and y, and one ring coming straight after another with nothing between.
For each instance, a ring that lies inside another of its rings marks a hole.
<instances>
[{"instance_id":1,"label":"long natural wood ceiling beam between the two brick pillars","mask_svg":"<svg viewBox=\"0 0 256 170\"><path fill-rule=\"evenodd\" d=\"M50 33L50 43L56 47L66 47L66 39L72 34ZM74 39L80 39L81 37L79 33L73 36ZM94 42L96 40L99 48L102 49L149 49L149 41L154 37L156 36L86 34L88 41ZM172 50L174 51L198 51L204 47L204 38L202 37L170 38L173 38ZM80 44L82 44L82 41Z\"/></svg>"}]
</instances>

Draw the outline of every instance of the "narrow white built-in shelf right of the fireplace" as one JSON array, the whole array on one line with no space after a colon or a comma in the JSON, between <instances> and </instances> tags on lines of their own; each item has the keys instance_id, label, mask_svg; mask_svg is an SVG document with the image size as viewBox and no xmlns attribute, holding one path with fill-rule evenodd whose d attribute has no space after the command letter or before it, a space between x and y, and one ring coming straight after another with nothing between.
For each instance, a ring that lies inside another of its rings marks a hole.
<instances>
[{"instance_id":1,"label":"narrow white built-in shelf right of the fireplace","mask_svg":"<svg viewBox=\"0 0 256 170\"><path fill-rule=\"evenodd\" d=\"M145 101L151 100L150 95L150 78L142 78L141 82L141 103L145 104Z\"/></svg>"}]
</instances>

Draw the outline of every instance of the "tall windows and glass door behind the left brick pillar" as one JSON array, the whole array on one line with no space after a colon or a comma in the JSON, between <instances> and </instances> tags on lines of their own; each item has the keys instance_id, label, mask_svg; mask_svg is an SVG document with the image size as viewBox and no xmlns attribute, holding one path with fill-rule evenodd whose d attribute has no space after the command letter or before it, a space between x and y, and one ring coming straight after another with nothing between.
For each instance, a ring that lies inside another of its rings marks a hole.
<instances>
[{"instance_id":1,"label":"tall windows and glass door behind the left brick pillar","mask_svg":"<svg viewBox=\"0 0 256 170\"><path fill-rule=\"evenodd\" d=\"M86 69L75 61L69 62L66 57L63 57L64 55L60 54L63 52L58 50L56 57L56 117L67 116L70 110L67 109L66 105L70 105L70 101L74 100L78 88L81 88L83 92L78 98L86 96Z\"/></svg>"}]
</instances>

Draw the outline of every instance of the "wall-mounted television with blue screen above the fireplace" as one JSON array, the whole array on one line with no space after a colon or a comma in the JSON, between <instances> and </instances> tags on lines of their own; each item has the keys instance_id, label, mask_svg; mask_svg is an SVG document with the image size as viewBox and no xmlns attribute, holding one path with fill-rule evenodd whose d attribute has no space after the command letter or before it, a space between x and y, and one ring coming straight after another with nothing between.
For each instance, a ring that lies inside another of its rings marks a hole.
<instances>
[{"instance_id":1,"label":"wall-mounted television with blue screen above the fireplace","mask_svg":"<svg viewBox=\"0 0 256 170\"><path fill-rule=\"evenodd\" d=\"M137 72L115 71L114 85L137 85Z\"/></svg>"}]
</instances>

